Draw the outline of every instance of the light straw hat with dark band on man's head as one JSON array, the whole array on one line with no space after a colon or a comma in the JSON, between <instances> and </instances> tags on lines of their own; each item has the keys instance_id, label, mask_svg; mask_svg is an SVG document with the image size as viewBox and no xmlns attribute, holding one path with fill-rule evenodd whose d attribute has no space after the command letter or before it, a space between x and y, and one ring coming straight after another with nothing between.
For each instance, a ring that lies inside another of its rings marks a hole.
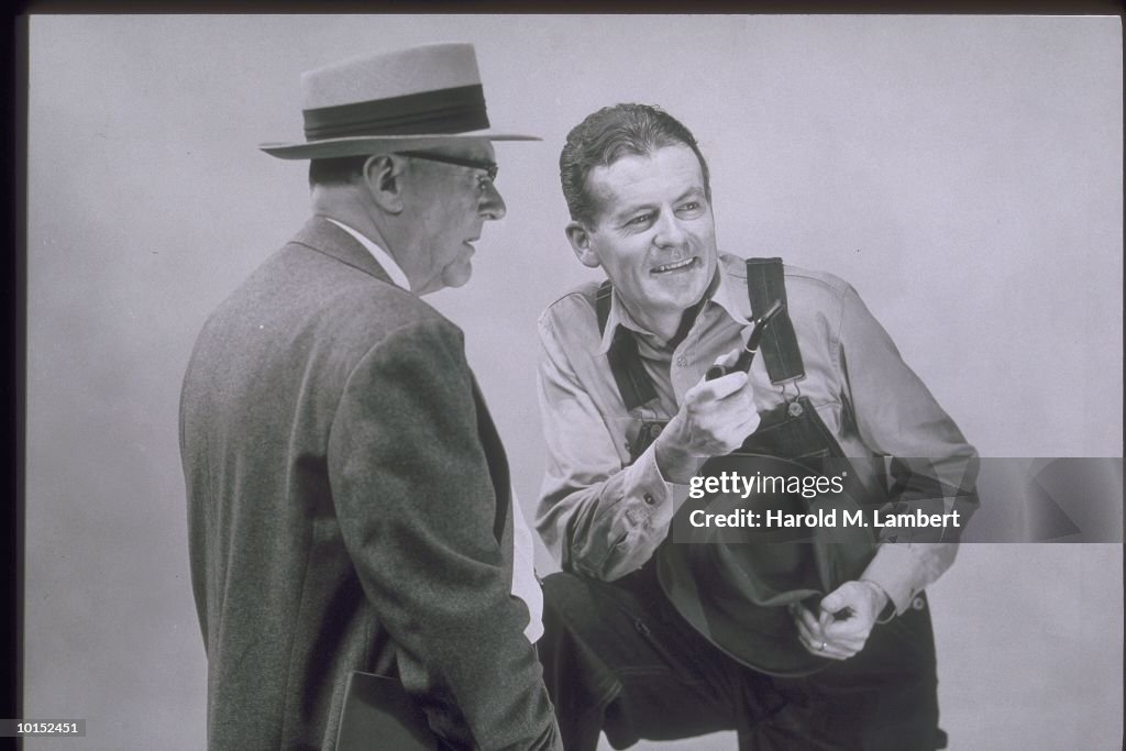
<instances>
[{"instance_id":1,"label":"light straw hat with dark band on man's head","mask_svg":"<svg viewBox=\"0 0 1126 751\"><path fill-rule=\"evenodd\" d=\"M467 138L539 141L490 128L472 44L369 54L301 77L305 141L263 143L278 159L358 157Z\"/></svg>"}]
</instances>

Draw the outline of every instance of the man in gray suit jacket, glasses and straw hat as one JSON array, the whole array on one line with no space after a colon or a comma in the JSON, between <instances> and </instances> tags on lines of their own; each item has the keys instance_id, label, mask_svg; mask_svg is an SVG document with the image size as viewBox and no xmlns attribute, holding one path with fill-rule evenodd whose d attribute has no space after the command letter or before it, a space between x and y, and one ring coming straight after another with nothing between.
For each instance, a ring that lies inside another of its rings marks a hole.
<instances>
[{"instance_id":1,"label":"man in gray suit jacket, glasses and straw hat","mask_svg":"<svg viewBox=\"0 0 1126 751\"><path fill-rule=\"evenodd\" d=\"M419 298L468 280L504 215L491 142L530 136L489 129L466 44L303 88L305 142L262 149L311 160L314 216L208 319L181 395L208 745L333 748L364 671L447 748L560 749L504 452Z\"/></svg>"}]
</instances>

